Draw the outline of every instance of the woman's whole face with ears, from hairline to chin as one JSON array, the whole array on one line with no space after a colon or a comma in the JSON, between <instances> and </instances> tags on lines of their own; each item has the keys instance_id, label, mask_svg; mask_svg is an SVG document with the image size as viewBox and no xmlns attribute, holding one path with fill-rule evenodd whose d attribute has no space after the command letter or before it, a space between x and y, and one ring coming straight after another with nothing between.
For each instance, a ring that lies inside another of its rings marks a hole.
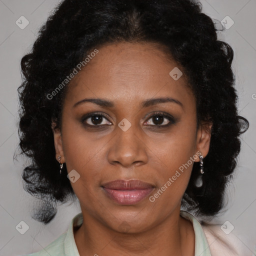
<instances>
[{"instance_id":1,"label":"woman's whole face with ears, from hairline to chin","mask_svg":"<svg viewBox=\"0 0 256 256\"><path fill-rule=\"evenodd\" d=\"M123 42L98 48L68 85L54 143L83 214L139 232L179 211L210 140L180 71L154 44Z\"/></svg>"}]
</instances>

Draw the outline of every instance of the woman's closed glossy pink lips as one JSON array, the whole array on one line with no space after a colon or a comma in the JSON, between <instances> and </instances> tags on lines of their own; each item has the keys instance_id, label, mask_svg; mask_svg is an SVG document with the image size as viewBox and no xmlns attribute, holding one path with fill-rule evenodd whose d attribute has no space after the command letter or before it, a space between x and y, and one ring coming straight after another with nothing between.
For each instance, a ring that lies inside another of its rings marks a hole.
<instances>
[{"instance_id":1,"label":"woman's closed glossy pink lips","mask_svg":"<svg viewBox=\"0 0 256 256\"><path fill-rule=\"evenodd\" d=\"M153 185L138 179L117 179L103 184L102 187L109 198L123 205L136 204L154 189Z\"/></svg>"}]
</instances>

